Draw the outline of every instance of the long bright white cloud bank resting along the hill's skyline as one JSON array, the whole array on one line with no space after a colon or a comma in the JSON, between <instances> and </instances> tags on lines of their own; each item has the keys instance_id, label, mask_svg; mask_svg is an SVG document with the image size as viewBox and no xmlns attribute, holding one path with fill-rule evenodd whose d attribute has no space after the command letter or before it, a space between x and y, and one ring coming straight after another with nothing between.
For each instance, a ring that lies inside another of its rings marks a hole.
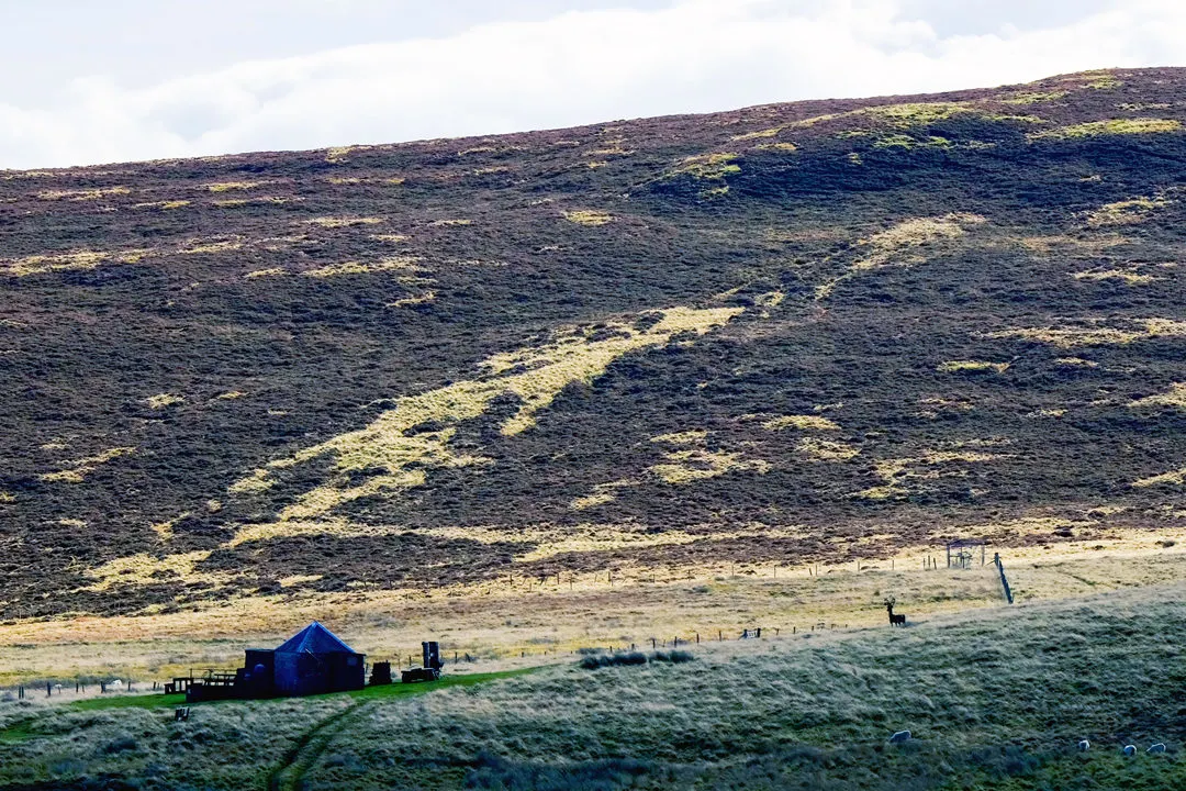
<instances>
[{"instance_id":1,"label":"long bright white cloud bank resting along the hill's skyline","mask_svg":"<svg viewBox=\"0 0 1186 791\"><path fill-rule=\"evenodd\" d=\"M917 2L916 2L917 5ZM747 104L949 90L1186 60L1186 4L943 36L903 0L683 0L486 24L0 103L0 166L493 134Z\"/></svg>"}]
</instances>

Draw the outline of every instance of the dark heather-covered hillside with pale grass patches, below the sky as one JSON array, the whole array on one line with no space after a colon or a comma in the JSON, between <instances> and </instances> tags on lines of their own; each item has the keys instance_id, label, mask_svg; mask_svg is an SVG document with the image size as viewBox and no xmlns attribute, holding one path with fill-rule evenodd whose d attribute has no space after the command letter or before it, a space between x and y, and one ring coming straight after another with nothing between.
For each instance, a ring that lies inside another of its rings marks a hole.
<instances>
[{"instance_id":1,"label":"dark heather-covered hillside with pale grass patches, below the sky","mask_svg":"<svg viewBox=\"0 0 1186 791\"><path fill-rule=\"evenodd\" d=\"M0 172L0 615L1186 519L1186 70Z\"/></svg>"}]
</instances>

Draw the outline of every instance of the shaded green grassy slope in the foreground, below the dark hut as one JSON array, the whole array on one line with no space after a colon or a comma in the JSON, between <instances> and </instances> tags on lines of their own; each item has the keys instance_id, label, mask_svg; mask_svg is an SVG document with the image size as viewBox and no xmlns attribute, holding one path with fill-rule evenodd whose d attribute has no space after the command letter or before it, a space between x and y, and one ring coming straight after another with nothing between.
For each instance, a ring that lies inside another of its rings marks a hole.
<instances>
[{"instance_id":1,"label":"shaded green grassy slope in the foreground, below the dark hut","mask_svg":"<svg viewBox=\"0 0 1186 791\"><path fill-rule=\"evenodd\" d=\"M185 723L168 708L0 703L0 786L1177 789L1182 593L706 645L683 664L568 663L416 697L203 704ZM899 728L916 741L888 745ZM1144 754L1155 741L1168 753Z\"/></svg>"}]
</instances>

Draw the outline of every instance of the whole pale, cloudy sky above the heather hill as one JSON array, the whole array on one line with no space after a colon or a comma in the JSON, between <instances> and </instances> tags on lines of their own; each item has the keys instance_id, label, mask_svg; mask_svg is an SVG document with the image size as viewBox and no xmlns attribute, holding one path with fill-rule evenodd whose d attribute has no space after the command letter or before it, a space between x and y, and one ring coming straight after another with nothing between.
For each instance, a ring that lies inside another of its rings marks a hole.
<instances>
[{"instance_id":1,"label":"whole pale, cloudy sky above the heather hill","mask_svg":"<svg viewBox=\"0 0 1186 791\"><path fill-rule=\"evenodd\" d=\"M1186 65L1186 0L0 0L0 168Z\"/></svg>"}]
</instances>

